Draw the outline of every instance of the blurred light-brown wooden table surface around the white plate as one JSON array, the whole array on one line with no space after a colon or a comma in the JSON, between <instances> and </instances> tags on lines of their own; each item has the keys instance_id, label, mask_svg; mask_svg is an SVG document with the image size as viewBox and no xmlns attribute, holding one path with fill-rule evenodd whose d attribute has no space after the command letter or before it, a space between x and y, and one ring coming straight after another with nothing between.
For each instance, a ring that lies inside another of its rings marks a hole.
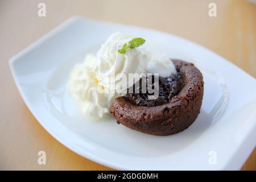
<instances>
[{"instance_id":1,"label":"blurred light-brown wooden table surface around the white plate","mask_svg":"<svg viewBox=\"0 0 256 182\"><path fill-rule=\"evenodd\" d=\"M46 3L46 17L38 3ZM217 5L209 17L208 5ZM9 59L74 15L154 28L199 43L256 77L256 6L236 0L0 1L0 169L110 169L75 154L47 133L19 95ZM47 164L38 164L38 151ZM256 151L242 169L256 170Z\"/></svg>"}]
</instances>

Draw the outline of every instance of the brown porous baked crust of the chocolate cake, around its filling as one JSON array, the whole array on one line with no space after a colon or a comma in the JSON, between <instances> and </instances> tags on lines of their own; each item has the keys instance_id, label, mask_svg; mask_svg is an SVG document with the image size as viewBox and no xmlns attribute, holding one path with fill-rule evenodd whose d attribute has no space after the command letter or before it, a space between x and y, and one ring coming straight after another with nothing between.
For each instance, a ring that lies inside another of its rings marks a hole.
<instances>
[{"instance_id":1,"label":"brown porous baked crust of the chocolate cake, around its filling","mask_svg":"<svg viewBox=\"0 0 256 182\"><path fill-rule=\"evenodd\" d=\"M126 97L117 97L110 113L118 123L151 135L171 135L187 129L200 113L204 94L203 75L192 63L172 59L184 86L164 105L146 107L132 104Z\"/></svg>"}]
</instances>

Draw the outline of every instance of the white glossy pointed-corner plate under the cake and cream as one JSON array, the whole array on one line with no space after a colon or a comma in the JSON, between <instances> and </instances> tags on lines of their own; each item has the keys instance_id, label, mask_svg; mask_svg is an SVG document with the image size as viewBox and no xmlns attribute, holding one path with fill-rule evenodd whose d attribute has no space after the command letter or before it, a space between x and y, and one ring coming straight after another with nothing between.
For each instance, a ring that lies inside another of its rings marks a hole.
<instances>
[{"instance_id":1,"label":"white glossy pointed-corner plate under the cake and cream","mask_svg":"<svg viewBox=\"0 0 256 182\"><path fill-rule=\"evenodd\" d=\"M73 65L113 32L147 40L145 47L194 63L203 73L201 113L188 129L156 137L82 114L67 91ZM75 17L10 59L31 113L77 154L115 169L240 169L255 147L256 81L221 56L164 32Z\"/></svg>"}]
</instances>

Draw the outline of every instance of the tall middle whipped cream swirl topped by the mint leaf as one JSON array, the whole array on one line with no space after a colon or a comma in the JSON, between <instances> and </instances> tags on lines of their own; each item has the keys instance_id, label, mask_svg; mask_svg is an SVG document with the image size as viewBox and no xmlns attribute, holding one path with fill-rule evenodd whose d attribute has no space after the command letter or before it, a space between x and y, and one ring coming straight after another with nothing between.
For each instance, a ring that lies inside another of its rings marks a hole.
<instances>
[{"instance_id":1,"label":"tall middle whipped cream swirl topped by the mint leaf","mask_svg":"<svg viewBox=\"0 0 256 182\"><path fill-rule=\"evenodd\" d=\"M121 77L129 76L129 73L145 73L147 69L147 52L143 46L128 49L126 53L121 54L118 49L121 49L125 43L132 40L133 37L117 32L110 35L108 40L102 44L97 52L97 57L100 59L100 72L98 79L102 85L108 87L109 90L115 90L118 82L121 82ZM122 85L123 90L133 86Z\"/></svg>"}]
</instances>

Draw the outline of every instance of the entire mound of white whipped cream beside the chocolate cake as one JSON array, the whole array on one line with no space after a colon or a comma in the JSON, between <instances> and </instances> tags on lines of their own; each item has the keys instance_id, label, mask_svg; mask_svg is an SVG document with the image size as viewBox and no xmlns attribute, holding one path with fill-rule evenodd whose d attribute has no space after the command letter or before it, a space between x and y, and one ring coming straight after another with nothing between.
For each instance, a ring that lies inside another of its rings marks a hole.
<instances>
[{"instance_id":1,"label":"entire mound of white whipped cream beside the chocolate cake","mask_svg":"<svg viewBox=\"0 0 256 182\"><path fill-rule=\"evenodd\" d=\"M160 77L169 77L176 73L172 61L165 56L148 52L143 46L118 50L134 37L117 32L109 36L96 55L86 55L84 63L75 65L69 79L69 91L86 114L92 117L104 117L116 92L116 85L129 73L159 73ZM129 82L128 82L129 83ZM123 85L123 90L129 86Z\"/></svg>"}]
</instances>

